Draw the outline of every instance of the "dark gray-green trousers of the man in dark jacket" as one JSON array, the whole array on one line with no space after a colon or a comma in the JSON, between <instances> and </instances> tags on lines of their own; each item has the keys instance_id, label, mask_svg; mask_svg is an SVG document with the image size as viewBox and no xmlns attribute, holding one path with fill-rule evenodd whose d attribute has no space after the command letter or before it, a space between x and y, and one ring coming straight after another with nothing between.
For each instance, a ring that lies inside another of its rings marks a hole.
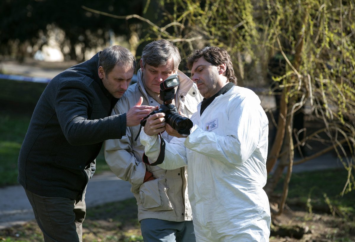
<instances>
[{"instance_id":1,"label":"dark gray-green trousers of the man in dark jacket","mask_svg":"<svg viewBox=\"0 0 355 242\"><path fill-rule=\"evenodd\" d=\"M43 197L24 189L45 242L82 242L85 194L82 201Z\"/></svg>"}]
</instances>

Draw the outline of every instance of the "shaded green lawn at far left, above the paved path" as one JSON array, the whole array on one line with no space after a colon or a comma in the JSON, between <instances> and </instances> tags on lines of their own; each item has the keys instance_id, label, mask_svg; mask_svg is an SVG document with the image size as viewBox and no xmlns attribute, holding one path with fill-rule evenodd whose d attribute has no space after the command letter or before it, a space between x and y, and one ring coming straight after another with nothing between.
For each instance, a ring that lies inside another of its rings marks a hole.
<instances>
[{"instance_id":1,"label":"shaded green lawn at far left, above the paved path","mask_svg":"<svg viewBox=\"0 0 355 242\"><path fill-rule=\"evenodd\" d=\"M45 84L0 79L0 187L17 184L17 158Z\"/></svg>"}]
</instances>

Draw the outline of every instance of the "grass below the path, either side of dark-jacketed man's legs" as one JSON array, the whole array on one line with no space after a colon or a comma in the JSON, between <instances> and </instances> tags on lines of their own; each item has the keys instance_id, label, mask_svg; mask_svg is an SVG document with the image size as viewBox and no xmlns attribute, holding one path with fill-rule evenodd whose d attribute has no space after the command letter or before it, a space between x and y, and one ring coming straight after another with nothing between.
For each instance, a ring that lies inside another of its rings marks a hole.
<instances>
[{"instance_id":1,"label":"grass below the path, either side of dark-jacketed man's legs","mask_svg":"<svg viewBox=\"0 0 355 242\"><path fill-rule=\"evenodd\" d=\"M23 226L0 230L0 241L41 242L42 232L33 220ZM142 242L140 224L137 220L136 199L87 209L83 223L84 242Z\"/></svg>"}]
</instances>

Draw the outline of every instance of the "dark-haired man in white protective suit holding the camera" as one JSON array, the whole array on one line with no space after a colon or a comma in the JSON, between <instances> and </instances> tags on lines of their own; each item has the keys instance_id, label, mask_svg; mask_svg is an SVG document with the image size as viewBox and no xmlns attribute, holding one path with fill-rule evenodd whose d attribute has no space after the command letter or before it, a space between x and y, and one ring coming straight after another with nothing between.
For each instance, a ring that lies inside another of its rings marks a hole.
<instances>
[{"instance_id":1,"label":"dark-haired man in white protective suit holding the camera","mask_svg":"<svg viewBox=\"0 0 355 242\"><path fill-rule=\"evenodd\" d=\"M224 49L194 50L187 66L204 97L191 117L191 133L177 133L164 113L151 115L140 134L146 162L163 169L187 166L196 241L269 241L271 216L263 190L268 119L260 99L236 86ZM175 136L166 144L157 135L164 130Z\"/></svg>"}]
</instances>

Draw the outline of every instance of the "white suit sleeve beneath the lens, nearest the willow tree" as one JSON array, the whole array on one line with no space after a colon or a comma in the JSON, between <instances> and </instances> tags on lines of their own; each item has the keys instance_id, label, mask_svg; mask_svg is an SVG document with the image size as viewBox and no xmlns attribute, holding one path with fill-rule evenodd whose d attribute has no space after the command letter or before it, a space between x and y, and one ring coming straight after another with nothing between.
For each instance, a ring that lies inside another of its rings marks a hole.
<instances>
[{"instance_id":1,"label":"white suit sleeve beneath the lens, nearest the willow tree","mask_svg":"<svg viewBox=\"0 0 355 242\"><path fill-rule=\"evenodd\" d=\"M245 97L240 103L228 103L222 125L224 135L195 125L185 140L186 148L215 160L241 164L267 142L268 120L258 99Z\"/></svg>"}]
</instances>

